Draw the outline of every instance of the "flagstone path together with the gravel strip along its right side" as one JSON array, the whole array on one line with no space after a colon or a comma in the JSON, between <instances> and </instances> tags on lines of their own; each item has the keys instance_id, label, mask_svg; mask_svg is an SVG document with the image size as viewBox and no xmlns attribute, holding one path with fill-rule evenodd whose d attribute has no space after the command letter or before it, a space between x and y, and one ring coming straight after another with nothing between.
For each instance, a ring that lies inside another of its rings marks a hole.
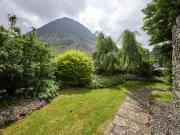
<instances>
[{"instance_id":1,"label":"flagstone path together with the gravel strip along its right side","mask_svg":"<svg viewBox=\"0 0 180 135\"><path fill-rule=\"evenodd\" d=\"M150 94L158 91L131 91L104 135L180 135L180 99L152 101Z\"/></svg>"}]
</instances>

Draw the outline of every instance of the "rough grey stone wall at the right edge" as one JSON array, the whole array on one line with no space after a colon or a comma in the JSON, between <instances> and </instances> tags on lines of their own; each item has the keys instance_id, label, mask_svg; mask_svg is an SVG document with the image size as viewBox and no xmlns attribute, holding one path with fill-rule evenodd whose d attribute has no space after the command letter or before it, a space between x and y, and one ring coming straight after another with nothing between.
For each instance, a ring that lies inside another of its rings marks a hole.
<instances>
[{"instance_id":1,"label":"rough grey stone wall at the right edge","mask_svg":"<svg viewBox=\"0 0 180 135\"><path fill-rule=\"evenodd\" d=\"M172 31L173 39L173 91L180 98L180 16L176 19L176 25Z\"/></svg>"}]
</instances>

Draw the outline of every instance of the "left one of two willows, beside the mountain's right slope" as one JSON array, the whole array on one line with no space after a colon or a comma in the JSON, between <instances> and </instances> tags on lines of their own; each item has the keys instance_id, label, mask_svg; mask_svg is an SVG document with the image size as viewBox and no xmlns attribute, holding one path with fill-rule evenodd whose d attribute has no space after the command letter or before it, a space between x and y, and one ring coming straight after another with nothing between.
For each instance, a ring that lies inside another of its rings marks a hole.
<instances>
[{"instance_id":1,"label":"left one of two willows, beside the mountain's right slope","mask_svg":"<svg viewBox=\"0 0 180 135\"><path fill-rule=\"evenodd\" d=\"M111 37L97 33L96 51L93 53L97 73L112 73L117 69L117 47Z\"/></svg>"}]
</instances>

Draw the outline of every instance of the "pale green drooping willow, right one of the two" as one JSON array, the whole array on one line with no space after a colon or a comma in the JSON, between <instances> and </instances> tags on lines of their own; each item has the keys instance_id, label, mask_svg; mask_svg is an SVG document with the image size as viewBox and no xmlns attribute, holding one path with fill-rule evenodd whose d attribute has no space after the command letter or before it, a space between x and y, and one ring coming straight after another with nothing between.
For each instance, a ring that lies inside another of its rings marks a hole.
<instances>
[{"instance_id":1,"label":"pale green drooping willow, right one of the two","mask_svg":"<svg viewBox=\"0 0 180 135\"><path fill-rule=\"evenodd\" d=\"M120 68L127 72L136 72L142 64L142 52L134 32L125 30L121 35Z\"/></svg>"}]
</instances>

